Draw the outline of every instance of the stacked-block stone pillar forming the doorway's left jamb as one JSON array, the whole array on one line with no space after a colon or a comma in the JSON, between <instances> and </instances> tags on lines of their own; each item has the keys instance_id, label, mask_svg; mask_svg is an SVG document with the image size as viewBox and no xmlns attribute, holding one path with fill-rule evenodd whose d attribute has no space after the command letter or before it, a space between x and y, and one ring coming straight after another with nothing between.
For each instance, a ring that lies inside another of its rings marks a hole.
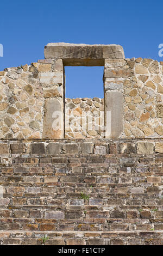
<instances>
[{"instance_id":1,"label":"stacked-block stone pillar forming the doorway's left jamb","mask_svg":"<svg viewBox=\"0 0 163 256\"><path fill-rule=\"evenodd\" d=\"M62 59L52 59L51 72L41 72L39 76L45 98L42 138L64 138L64 66Z\"/></svg>"}]
</instances>

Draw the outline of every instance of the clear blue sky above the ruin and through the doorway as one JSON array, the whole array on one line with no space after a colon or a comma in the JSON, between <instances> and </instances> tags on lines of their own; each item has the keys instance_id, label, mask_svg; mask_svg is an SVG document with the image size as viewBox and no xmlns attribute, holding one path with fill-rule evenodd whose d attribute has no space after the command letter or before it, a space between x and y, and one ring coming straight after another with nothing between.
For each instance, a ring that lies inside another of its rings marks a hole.
<instances>
[{"instance_id":1,"label":"clear blue sky above the ruin and through the doorway","mask_svg":"<svg viewBox=\"0 0 163 256\"><path fill-rule=\"evenodd\" d=\"M0 70L44 58L48 42L120 44L126 58L163 61L162 0L9 0L0 8ZM103 97L102 75L100 67L67 67L66 95Z\"/></svg>"}]
</instances>

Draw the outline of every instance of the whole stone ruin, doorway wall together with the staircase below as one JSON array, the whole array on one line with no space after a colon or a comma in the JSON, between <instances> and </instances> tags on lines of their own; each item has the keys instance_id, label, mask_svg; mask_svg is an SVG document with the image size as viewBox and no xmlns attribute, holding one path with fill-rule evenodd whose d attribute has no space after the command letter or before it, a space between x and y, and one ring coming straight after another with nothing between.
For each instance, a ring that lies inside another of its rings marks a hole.
<instances>
[{"instance_id":1,"label":"whole stone ruin, doorway wall together with the staircase below","mask_svg":"<svg viewBox=\"0 0 163 256\"><path fill-rule=\"evenodd\" d=\"M104 66L104 98L66 99L65 66ZM0 90L2 245L163 244L163 62L51 43Z\"/></svg>"}]
</instances>

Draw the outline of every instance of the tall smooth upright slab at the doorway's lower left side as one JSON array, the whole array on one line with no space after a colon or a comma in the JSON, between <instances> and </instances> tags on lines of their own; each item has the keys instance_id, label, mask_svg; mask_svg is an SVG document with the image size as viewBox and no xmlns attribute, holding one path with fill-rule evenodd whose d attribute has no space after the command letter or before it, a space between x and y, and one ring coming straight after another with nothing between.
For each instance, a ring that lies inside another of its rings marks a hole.
<instances>
[{"instance_id":1,"label":"tall smooth upright slab at the doorway's lower left side","mask_svg":"<svg viewBox=\"0 0 163 256\"><path fill-rule=\"evenodd\" d=\"M64 137L64 104L59 99L47 99L44 106L43 138Z\"/></svg>"}]
</instances>

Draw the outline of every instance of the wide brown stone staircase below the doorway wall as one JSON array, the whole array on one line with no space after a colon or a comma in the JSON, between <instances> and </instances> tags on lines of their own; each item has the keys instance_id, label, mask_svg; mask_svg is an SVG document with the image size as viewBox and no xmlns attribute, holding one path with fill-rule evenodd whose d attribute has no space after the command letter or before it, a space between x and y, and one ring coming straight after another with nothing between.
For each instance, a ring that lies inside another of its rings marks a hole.
<instances>
[{"instance_id":1,"label":"wide brown stone staircase below the doorway wall","mask_svg":"<svg viewBox=\"0 0 163 256\"><path fill-rule=\"evenodd\" d=\"M163 245L161 145L1 141L1 245Z\"/></svg>"}]
</instances>

